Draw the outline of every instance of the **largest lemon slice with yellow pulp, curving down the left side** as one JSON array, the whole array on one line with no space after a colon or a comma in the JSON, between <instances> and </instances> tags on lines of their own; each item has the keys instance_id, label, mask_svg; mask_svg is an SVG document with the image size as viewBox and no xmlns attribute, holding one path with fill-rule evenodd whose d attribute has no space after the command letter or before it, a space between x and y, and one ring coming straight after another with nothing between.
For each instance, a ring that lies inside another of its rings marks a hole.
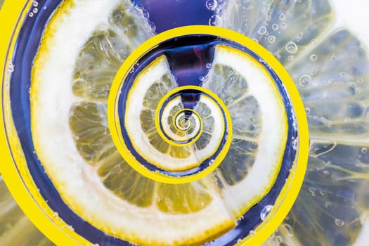
<instances>
[{"instance_id":1,"label":"largest lemon slice with yellow pulp, curving down the left side","mask_svg":"<svg viewBox=\"0 0 369 246\"><path fill-rule=\"evenodd\" d=\"M130 1L76 0L58 9L32 70L34 148L64 202L106 234L143 245L207 242L235 226L212 179L147 179L119 155L108 129L112 77L152 35L145 23Z\"/></svg>"}]
</instances>

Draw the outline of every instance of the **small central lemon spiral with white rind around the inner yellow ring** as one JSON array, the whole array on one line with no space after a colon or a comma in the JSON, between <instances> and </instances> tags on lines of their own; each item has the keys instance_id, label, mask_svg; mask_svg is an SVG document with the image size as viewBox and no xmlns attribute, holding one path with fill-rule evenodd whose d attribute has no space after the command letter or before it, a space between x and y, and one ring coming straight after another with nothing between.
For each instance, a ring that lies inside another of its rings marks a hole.
<instances>
[{"instance_id":1,"label":"small central lemon spiral with white rind around the inner yellow ring","mask_svg":"<svg viewBox=\"0 0 369 246\"><path fill-rule=\"evenodd\" d=\"M153 74L160 79L153 82ZM145 168L189 176L223 160L219 153L229 145L232 126L226 106L203 87L178 86L165 56L145 67L126 91L122 135Z\"/></svg>"}]
</instances>

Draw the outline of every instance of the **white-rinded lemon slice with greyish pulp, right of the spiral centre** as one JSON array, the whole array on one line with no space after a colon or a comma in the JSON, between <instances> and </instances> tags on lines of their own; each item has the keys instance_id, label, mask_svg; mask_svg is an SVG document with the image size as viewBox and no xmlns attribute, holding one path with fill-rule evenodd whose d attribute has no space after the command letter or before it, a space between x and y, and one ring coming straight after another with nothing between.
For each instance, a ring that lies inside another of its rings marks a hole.
<instances>
[{"instance_id":1,"label":"white-rinded lemon slice with greyish pulp, right of the spiral centre","mask_svg":"<svg viewBox=\"0 0 369 246\"><path fill-rule=\"evenodd\" d=\"M232 119L231 146L216 178L226 204L239 217L276 180L287 141L285 106L259 60L228 46L216 46L203 86L224 101Z\"/></svg>"}]
</instances>

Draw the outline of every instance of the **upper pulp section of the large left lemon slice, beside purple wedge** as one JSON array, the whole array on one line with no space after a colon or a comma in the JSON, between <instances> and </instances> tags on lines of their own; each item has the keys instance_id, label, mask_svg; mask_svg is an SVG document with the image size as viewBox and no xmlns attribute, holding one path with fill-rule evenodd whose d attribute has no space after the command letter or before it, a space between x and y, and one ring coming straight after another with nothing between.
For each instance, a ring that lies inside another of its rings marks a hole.
<instances>
[{"instance_id":1,"label":"upper pulp section of the large left lemon slice, beside purple wedge","mask_svg":"<svg viewBox=\"0 0 369 246\"><path fill-rule=\"evenodd\" d=\"M76 60L73 92L90 99L107 99L112 80L129 54L153 34L142 13L122 1L86 41Z\"/></svg>"}]
</instances>

